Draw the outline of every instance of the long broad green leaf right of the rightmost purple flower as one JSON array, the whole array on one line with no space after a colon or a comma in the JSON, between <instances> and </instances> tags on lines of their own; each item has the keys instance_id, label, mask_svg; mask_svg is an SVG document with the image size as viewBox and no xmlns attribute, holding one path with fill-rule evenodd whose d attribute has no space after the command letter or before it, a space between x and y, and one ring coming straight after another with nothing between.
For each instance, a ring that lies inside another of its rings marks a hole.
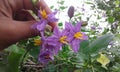
<instances>
[{"instance_id":1,"label":"long broad green leaf right of the rightmost purple flower","mask_svg":"<svg viewBox=\"0 0 120 72\"><path fill-rule=\"evenodd\" d=\"M109 42L113 39L113 35L111 34L106 34L103 35L102 37L97 38L94 40L92 43L89 44L89 53L96 53L99 50L106 48L109 44Z\"/></svg>"}]
</instances>

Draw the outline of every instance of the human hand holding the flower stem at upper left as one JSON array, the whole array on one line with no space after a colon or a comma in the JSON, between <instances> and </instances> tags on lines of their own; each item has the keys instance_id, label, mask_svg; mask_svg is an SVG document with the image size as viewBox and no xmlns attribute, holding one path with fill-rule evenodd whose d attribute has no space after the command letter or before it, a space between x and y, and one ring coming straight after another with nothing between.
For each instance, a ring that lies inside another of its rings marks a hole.
<instances>
[{"instance_id":1,"label":"human hand holding the flower stem at upper left","mask_svg":"<svg viewBox=\"0 0 120 72\"><path fill-rule=\"evenodd\" d=\"M41 0L35 5L51 13L50 8ZM37 35L31 26L35 18L27 11L34 10L31 0L1 0L0 1L0 50L20 40ZM49 23L54 28L56 23Z\"/></svg>"}]
</instances>

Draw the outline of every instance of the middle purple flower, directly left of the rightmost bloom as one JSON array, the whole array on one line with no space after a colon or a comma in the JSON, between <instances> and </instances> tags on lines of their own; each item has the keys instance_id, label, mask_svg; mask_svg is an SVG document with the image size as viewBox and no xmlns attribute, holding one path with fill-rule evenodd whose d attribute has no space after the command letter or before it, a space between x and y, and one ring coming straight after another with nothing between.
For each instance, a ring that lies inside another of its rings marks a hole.
<instances>
[{"instance_id":1,"label":"middle purple flower, directly left of the rightmost bloom","mask_svg":"<svg viewBox=\"0 0 120 72\"><path fill-rule=\"evenodd\" d=\"M60 31L57 27L54 28L53 35L47 39L49 45L53 45L55 48L55 54L62 49L62 45L67 44L68 31Z\"/></svg>"}]
</instances>

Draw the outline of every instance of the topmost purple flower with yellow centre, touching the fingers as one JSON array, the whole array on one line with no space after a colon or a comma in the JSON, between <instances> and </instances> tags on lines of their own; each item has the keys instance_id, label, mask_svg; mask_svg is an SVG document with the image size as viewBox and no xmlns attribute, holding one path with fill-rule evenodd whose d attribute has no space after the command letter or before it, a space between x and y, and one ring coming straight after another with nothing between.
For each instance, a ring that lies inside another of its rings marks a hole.
<instances>
[{"instance_id":1,"label":"topmost purple flower with yellow centre, touching the fingers","mask_svg":"<svg viewBox=\"0 0 120 72\"><path fill-rule=\"evenodd\" d=\"M44 31L45 26L48 22L57 22L58 19L55 17L57 11L48 14L45 12L45 10L39 10L38 11L38 17L40 19L40 21L38 21L37 23L35 23L32 28L37 29L38 31Z\"/></svg>"}]
</instances>

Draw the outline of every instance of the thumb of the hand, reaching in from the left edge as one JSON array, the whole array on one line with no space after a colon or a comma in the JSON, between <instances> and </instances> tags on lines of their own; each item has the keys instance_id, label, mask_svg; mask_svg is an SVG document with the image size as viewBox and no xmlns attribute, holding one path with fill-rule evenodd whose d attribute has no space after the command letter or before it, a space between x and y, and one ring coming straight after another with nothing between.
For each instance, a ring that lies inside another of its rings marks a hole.
<instances>
[{"instance_id":1,"label":"thumb of the hand, reaching in from the left edge","mask_svg":"<svg viewBox=\"0 0 120 72\"><path fill-rule=\"evenodd\" d=\"M31 28L35 22L13 21L9 18L2 18L0 24L0 50L22 39L36 36L37 32Z\"/></svg>"}]
</instances>

